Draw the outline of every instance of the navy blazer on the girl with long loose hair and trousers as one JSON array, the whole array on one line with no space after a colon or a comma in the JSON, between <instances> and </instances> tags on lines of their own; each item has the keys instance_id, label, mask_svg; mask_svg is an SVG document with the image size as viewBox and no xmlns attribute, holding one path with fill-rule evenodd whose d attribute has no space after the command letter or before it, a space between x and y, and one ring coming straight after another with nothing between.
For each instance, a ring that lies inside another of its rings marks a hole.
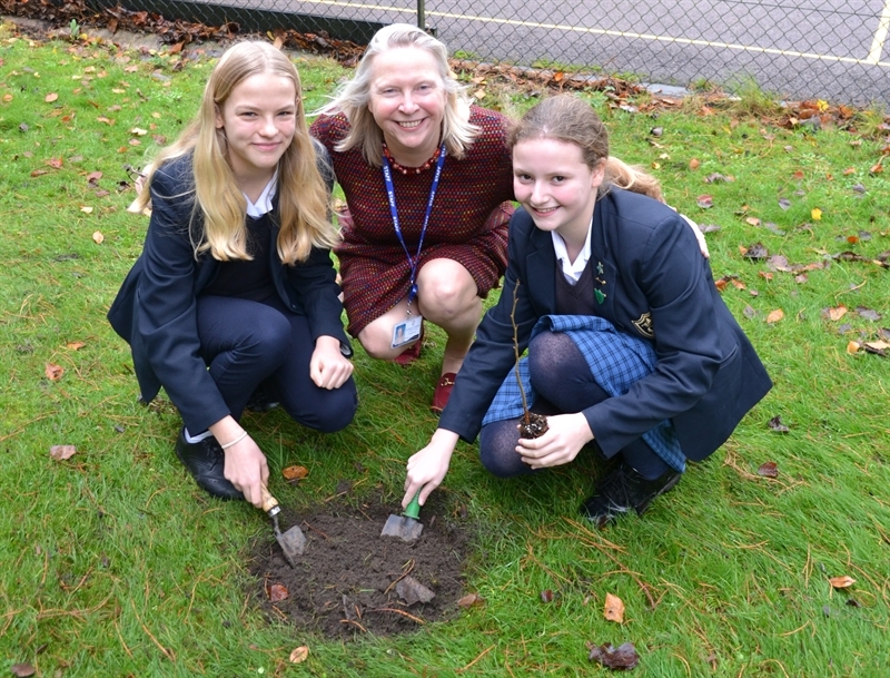
<instances>
[{"instance_id":1,"label":"navy blazer on the girl with long loose hair and trousers","mask_svg":"<svg viewBox=\"0 0 890 678\"><path fill-rule=\"evenodd\" d=\"M327 151L318 145L316 150L319 168L324 168ZM130 344L141 400L150 402L164 386L188 430L206 431L230 412L200 357L197 297L214 282L220 263L209 252L195 256L189 223L200 219L200 212L192 215L194 194L184 195L194 185L191 177L190 155L166 163L155 174L145 247L111 304L108 320ZM325 179L329 189L330 177ZM276 214L274 200L273 217ZM194 228L199 232L200 223ZM277 237L273 218L267 249L278 296L294 313L308 318L313 341L334 336L343 353L352 355L330 250L314 247L305 262L285 266Z\"/></svg>"}]
</instances>

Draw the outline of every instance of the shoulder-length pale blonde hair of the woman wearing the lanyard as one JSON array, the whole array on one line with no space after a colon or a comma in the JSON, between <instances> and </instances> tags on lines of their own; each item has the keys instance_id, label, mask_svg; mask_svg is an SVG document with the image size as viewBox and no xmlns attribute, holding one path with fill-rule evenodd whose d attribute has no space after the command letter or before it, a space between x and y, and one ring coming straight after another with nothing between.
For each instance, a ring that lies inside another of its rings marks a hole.
<instances>
[{"instance_id":1,"label":"shoulder-length pale blonde hair of the woman wearing the lanyard","mask_svg":"<svg viewBox=\"0 0 890 678\"><path fill-rule=\"evenodd\" d=\"M370 39L365 55L352 80L343 83L332 101L315 114L343 112L349 120L349 134L336 149L340 153L360 147L365 159L373 167L383 164L383 131L368 109L370 80L374 76L374 59L384 52L402 47L416 47L429 52L435 59L438 75L445 87L445 115L442 120L442 141L449 156L463 158L479 134L479 128L469 124L469 100L448 66L448 49L433 36L409 23L393 23L378 30ZM411 65L406 65L411 68Z\"/></svg>"}]
</instances>

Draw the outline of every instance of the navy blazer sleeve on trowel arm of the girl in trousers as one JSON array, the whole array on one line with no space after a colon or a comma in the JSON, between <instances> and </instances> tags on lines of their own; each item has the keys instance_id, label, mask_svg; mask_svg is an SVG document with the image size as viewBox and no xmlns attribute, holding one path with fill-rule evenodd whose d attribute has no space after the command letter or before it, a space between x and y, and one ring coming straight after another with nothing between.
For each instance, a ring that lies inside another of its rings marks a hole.
<instances>
[{"instance_id":1,"label":"navy blazer sleeve on trowel arm of the girl in trousers","mask_svg":"<svg viewBox=\"0 0 890 678\"><path fill-rule=\"evenodd\" d=\"M189 238L194 194L181 176L159 169L137 288L136 332L148 362L191 432L229 414L200 356L195 279L200 264ZM199 218L196 216L195 218Z\"/></svg>"}]
</instances>

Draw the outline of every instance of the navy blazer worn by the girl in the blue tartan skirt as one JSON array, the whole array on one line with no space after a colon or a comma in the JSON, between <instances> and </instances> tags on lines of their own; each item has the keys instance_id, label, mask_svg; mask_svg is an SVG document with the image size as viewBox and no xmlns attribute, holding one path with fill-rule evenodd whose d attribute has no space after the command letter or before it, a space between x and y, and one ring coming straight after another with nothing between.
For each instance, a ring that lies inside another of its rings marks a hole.
<instances>
[{"instance_id":1,"label":"navy blazer worn by the girl in the blue tartan skirt","mask_svg":"<svg viewBox=\"0 0 890 678\"><path fill-rule=\"evenodd\" d=\"M714 285L711 267L685 220L657 200L612 188L597 203L590 265L605 293L596 315L647 341L655 370L621 396L585 410L611 456L671 419L688 459L716 450L772 386L753 346ZM556 309L556 255L550 233L524 209L510 223L508 266L498 303L488 311L464 361L439 428L472 442L494 394L512 370L513 291L523 352L537 320Z\"/></svg>"}]
</instances>

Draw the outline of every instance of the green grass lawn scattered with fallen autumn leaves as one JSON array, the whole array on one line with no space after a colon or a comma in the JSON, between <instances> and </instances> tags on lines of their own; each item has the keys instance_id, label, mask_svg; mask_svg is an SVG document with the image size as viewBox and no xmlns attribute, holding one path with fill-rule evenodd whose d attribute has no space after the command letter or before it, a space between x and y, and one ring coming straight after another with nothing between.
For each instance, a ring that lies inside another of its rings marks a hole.
<instances>
[{"instance_id":1,"label":"green grass lawn scattered with fallen autumn leaves","mask_svg":"<svg viewBox=\"0 0 890 678\"><path fill-rule=\"evenodd\" d=\"M344 75L297 65L307 109ZM848 351L890 326L888 271L874 263L890 249L876 167L888 132L874 111L813 131L752 117L744 101L656 109L641 97L632 112L585 95L614 155L720 227L708 235L714 277L738 276L724 298L775 387L644 519L602 532L576 512L592 460L505 482L461 445L439 492L478 525L466 589L484 603L415 635L333 642L258 611L245 557L268 521L198 490L172 454L174 407L137 404L128 347L105 320L147 227L126 212L125 166L175 138L211 66L209 53L0 32L0 674L28 662L66 678L578 676L605 670L587 642L631 641L639 676L890 675L890 361ZM515 111L534 100L515 95ZM732 180L705 181L715 174ZM815 266L775 271L743 256L754 243L785 268ZM860 259L832 257L844 250ZM283 502L308 507L352 479L396 507L404 464L436 425L444 336L431 338L438 347L408 370L357 346L362 404L338 434L246 415ZM77 453L52 460L63 444ZM759 474L765 462L777 478ZM296 490L280 476L294 463L310 472ZM834 590L842 576L856 582ZM624 601L623 625L604 619L606 593ZM303 645L309 658L289 664Z\"/></svg>"}]
</instances>

